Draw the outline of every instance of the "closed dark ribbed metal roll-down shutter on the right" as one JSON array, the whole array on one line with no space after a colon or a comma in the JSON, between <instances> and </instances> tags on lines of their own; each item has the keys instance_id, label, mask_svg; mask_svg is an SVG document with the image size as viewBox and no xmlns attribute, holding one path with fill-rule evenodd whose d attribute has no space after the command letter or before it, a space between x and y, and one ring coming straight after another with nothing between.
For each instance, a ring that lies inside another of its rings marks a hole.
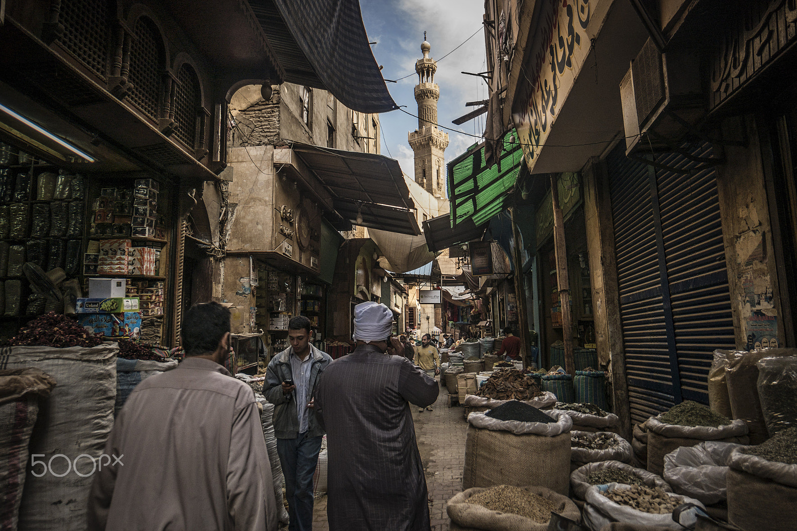
<instances>
[{"instance_id":1,"label":"closed dark ribbed metal roll-down shutter on the right","mask_svg":"<svg viewBox=\"0 0 797 531\"><path fill-rule=\"evenodd\" d=\"M684 399L708 403L712 352L734 346L716 172L681 154L656 162L679 171L627 159L622 144L607 158L634 423Z\"/></svg>"}]
</instances>

